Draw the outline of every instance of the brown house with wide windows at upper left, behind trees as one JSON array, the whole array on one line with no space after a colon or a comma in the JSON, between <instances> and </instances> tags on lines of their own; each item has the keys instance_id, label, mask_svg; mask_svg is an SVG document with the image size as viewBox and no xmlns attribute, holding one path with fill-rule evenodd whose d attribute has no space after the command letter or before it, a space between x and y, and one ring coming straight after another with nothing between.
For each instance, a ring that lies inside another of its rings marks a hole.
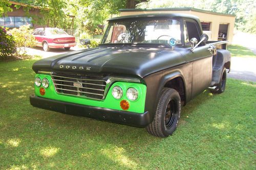
<instances>
[{"instance_id":1,"label":"brown house with wide windows at upper left, behind trees","mask_svg":"<svg viewBox=\"0 0 256 170\"><path fill-rule=\"evenodd\" d=\"M32 23L32 18L26 15L24 8L28 6L27 4L13 1L9 1L9 3L11 3L10 7L12 8L12 12L8 12L6 16L0 17L0 26L18 28L30 24L34 28L41 27L40 25ZM19 6L19 8L16 8L15 5ZM40 7L30 5L29 15L40 17Z\"/></svg>"}]
</instances>

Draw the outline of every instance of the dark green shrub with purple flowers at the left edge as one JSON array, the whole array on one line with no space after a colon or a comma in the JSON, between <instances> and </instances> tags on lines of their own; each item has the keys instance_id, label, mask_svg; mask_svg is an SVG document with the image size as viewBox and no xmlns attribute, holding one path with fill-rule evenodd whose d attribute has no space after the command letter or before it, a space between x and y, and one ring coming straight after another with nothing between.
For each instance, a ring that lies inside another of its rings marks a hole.
<instances>
[{"instance_id":1,"label":"dark green shrub with purple flowers at the left edge","mask_svg":"<svg viewBox=\"0 0 256 170\"><path fill-rule=\"evenodd\" d=\"M11 56L15 53L13 36L7 34L6 29L0 27L0 57Z\"/></svg>"}]
</instances>

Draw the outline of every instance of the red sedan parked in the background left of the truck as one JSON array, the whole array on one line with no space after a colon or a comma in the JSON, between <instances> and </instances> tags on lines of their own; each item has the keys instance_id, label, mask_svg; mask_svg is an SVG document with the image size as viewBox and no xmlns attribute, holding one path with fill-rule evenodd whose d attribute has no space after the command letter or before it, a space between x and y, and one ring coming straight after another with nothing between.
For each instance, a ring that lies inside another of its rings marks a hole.
<instances>
[{"instance_id":1,"label":"red sedan parked in the background left of the truck","mask_svg":"<svg viewBox=\"0 0 256 170\"><path fill-rule=\"evenodd\" d=\"M33 35L37 40L36 46L41 46L46 52L50 48L65 48L69 50L71 46L76 45L74 36L58 28L37 28L34 30Z\"/></svg>"}]
</instances>

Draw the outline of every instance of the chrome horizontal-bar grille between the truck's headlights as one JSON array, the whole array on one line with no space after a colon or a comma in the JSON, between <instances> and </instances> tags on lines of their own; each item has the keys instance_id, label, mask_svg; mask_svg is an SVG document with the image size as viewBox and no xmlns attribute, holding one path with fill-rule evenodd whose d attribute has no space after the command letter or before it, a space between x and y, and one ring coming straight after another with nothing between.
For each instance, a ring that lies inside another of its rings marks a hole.
<instances>
[{"instance_id":1,"label":"chrome horizontal-bar grille between the truck's headlights","mask_svg":"<svg viewBox=\"0 0 256 170\"><path fill-rule=\"evenodd\" d=\"M51 75L57 93L102 100L106 81L81 76Z\"/></svg>"}]
</instances>

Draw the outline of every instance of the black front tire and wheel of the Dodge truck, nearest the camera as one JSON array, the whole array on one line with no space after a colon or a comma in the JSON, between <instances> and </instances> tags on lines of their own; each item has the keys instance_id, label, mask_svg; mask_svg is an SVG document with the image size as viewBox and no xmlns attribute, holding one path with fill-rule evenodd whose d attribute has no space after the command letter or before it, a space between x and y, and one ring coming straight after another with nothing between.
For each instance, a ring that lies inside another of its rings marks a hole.
<instances>
[{"instance_id":1,"label":"black front tire and wheel of the Dodge truck, nearest the camera","mask_svg":"<svg viewBox=\"0 0 256 170\"><path fill-rule=\"evenodd\" d=\"M157 105L153 122L146 127L148 133L167 137L176 130L181 111L181 100L179 93L173 88L164 88Z\"/></svg>"}]
</instances>

